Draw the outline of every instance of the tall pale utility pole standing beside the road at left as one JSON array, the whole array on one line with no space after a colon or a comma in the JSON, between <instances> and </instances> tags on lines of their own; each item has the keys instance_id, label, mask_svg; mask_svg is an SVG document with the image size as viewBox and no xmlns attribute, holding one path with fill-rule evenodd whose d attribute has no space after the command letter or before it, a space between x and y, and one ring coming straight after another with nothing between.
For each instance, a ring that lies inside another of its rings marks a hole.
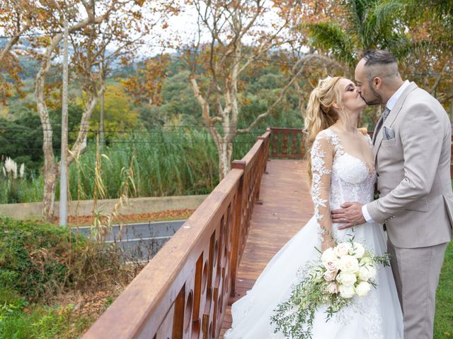
<instances>
[{"instance_id":1,"label":"tall pale utility pole standing beside the road at left","mask_svg":"<svg viewBox=\"0 0 453 339\"><path fill-rule=\"evenodd\" d=\"M62 152L60 160L59 184L59 225L68 222L68 183L67 183L67 148L68 148L68 20L64 20L63 47L63 97L62 97Z\"/></svg>"}]
</instances>

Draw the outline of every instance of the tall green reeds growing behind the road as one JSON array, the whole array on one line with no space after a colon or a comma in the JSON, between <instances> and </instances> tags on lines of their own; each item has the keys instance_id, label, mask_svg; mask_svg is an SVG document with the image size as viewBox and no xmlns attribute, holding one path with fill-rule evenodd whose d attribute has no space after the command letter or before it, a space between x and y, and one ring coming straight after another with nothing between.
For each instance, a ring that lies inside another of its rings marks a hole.
<instances>
[{"instance_id":1,"label":"tall green reeds growing behind the road","mask_svg":"<svg viewBox=\"0 0 453 339\"><path fill-rule=\"evenodd\" d=\"M256 134L236 137L234 159L241 159ZM219 182L217 150L207 131L180 126L137 131L117 136L104 148L101 171L96 173L96 143L88 143L86 152L69 167L70 196L77 200L92 199L96 180L105 186L104 198L119 198L124 169L131 168L135 190L131 197L209 194ZM134 157L132 157L134 154ZM82 173L83 172L83 173ZM18 186L17 202L42 200L42 176L27 177ZM0 203L8 203L8 192L1 189ZM58 196L57 186L57 196Z\"/></svg>"}]
</instances>

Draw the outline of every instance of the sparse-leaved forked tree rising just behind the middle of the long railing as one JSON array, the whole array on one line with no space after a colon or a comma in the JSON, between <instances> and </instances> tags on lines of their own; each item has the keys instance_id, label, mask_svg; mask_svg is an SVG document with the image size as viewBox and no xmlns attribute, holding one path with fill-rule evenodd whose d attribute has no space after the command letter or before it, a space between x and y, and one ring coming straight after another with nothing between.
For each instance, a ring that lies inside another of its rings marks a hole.
<instances>
[{"instance_id":1,"label":"sparse-leaved forked tree rising just behind the middle of the long railing","mask_svg":"<svg viewBox=\"0 0 453 339\"><path fill-rule=\"evenodd\" d=\"M199 29L197 39L185 50L184 58L191 69L190 85L202 109L203 124L218 151L219 177L222 179L231 167L234 138L249 133L259 121L268 117L300 73L299 66L304 59L292 65L285 86L268 109L247 127L239 129L242 90L239 77L251 65L272 58L273 49L285 42L282 33L289 27L294 1L196 0L190 4L197 11ZM279 12L280 17L270 16L272 11ZM210 41L202 42L203 35Z\"/></svg>"}]
</instances>

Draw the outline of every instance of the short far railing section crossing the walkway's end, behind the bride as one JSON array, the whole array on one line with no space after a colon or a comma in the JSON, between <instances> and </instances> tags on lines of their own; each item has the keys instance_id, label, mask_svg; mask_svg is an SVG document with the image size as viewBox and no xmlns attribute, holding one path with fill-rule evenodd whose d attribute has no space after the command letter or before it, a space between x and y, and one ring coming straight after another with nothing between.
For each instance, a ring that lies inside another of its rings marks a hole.
<instances>
[{"instance_id":1,"label":"short far railing section crossing the walkway's end, behind the bride","mask_svg":"<svg viewBox=\"0 0 453 339\"><path fill-rule=\"evenodd\" d=\"M270 157L273 159L303 159L305 157L305 136L302 129L271 127L272 142Z\"/></svg>"}]
</instances>

